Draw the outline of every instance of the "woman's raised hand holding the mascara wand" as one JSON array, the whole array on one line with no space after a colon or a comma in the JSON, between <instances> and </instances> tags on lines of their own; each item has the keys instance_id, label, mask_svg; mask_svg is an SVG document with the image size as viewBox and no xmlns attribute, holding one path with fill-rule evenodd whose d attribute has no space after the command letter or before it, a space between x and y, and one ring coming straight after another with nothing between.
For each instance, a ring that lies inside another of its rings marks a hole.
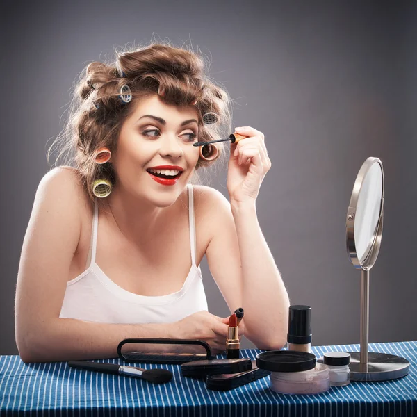
<instances>
[{"instance_id":1,"label":"woman's raised hand holding the mascara wand","mask_svg":"<svg viewBox=\"0 0 417 417\"><path fill-rule=\"evenodd\" d=\"M246 126L235 129L247 138L230 144L227 190L230 203L254 202L265 174L272 165L262 132Z\"/></svg>"}]
</instances>

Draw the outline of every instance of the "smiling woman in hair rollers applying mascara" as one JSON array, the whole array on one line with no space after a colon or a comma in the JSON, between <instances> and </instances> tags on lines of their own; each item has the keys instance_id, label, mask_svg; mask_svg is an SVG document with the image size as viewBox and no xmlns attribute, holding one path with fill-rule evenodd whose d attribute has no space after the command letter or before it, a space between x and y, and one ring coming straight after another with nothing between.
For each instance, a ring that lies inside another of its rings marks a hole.
<instances>
[{"instance_id":1,"label":"smiling woman in hair rollers applying mascara","mask_svg":"<svg viewBox=\"0 0 417 417\"><path fill-rule=\"evenodd\" d=\"M91 63L76 88L63 152L40 181L17 278L23 361L117 357L128 337L198 338L223 352L227 318L207 311L204 256L245 336L286 342L288 295L256 218L271 163L260 131L231 144L229 200L194 185L224 155L230 99L193 52L152 44ZM163 179L164 178L164 179ZM198 265L198 266L197 266Z\"/></svg>"}]
</instances>

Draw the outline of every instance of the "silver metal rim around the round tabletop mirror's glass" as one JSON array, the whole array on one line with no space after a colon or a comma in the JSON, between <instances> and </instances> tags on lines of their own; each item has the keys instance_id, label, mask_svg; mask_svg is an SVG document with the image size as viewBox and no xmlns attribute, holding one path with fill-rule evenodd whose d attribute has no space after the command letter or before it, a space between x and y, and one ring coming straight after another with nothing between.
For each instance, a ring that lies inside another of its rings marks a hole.
<instances>
[{"instance_id":1,"label":"silver metal rim around the round tabletop mirror's glass","mask_svg":"<svg viewBox=\"0 0 417 417\"><path fill-rule=\"evenodd\" d=\"M377 227L375 228L375 234L373 235L373 240L370 245L367 247L368 254L362 262L359 261L357 256L356 245L354 242L354 220L357 212L357 203L359 195L361 193L361 188L363 185L363 180L368 174L370 168L378 163L381 168L382 173L382 196L381 196L381 205L379 206L379 219L377 222ZM346 247L347 253L349 254L350 261L355 268L359 270L370 270L373 267L377 256L379 253L379 247L381 246L381 236L382 236L382 224L384 220L384 191L385 191L385 179L384 179L384 170L382 168L382 161L379 158L370 157L368 158L361 169L357 174L357 178L354 181L352 196L350 197L349 207L347 208L346 215Z\"/></svg>"}]
</instances>

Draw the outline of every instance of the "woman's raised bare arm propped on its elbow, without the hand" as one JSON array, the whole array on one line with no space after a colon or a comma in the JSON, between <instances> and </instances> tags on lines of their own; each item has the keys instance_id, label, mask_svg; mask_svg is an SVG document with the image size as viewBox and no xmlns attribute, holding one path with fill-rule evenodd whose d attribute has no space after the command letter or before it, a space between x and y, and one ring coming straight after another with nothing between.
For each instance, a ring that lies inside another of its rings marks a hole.
<instances>
[{"instance_id":1,"label":"woman's raised bare arm propped on its elbow, without the hand","mask_svg":"<svg viewBox=\"0 0 417 417\"><path fill-rule=\"evenodd\" d=\"M245 336L261 349L281 349L288 327L288 293L263 237L255 206L231 206L205 188L213 237L206 257L231 311L245 309ZM213 209L213 206L216 208Z\"/></svg>"}]
</instances>

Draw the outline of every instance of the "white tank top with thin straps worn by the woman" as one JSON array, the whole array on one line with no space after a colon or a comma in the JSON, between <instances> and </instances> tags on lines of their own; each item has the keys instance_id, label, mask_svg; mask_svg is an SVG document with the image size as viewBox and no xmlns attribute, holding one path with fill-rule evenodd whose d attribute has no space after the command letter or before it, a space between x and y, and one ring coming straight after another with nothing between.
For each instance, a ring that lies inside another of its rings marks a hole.
<instances>
[{"instance_id":1,"label":"white tank top with thin straps worn by the woman","mask_svg":"<svg viewBox=\"0 0 417 417\"><path fill-rule=\"evenodd\" d=\"M188 208L192 259L190 272L177 293L149 297L124 290L108 278L95 262L99 217L95 202L90 265L87 261L87 269L67 282L60 317L106 323L162 323L181 320L197 311L207 311L202 272L195 264L195 221L191 184L188 184Z\"/></svg>"}]
</instances>

